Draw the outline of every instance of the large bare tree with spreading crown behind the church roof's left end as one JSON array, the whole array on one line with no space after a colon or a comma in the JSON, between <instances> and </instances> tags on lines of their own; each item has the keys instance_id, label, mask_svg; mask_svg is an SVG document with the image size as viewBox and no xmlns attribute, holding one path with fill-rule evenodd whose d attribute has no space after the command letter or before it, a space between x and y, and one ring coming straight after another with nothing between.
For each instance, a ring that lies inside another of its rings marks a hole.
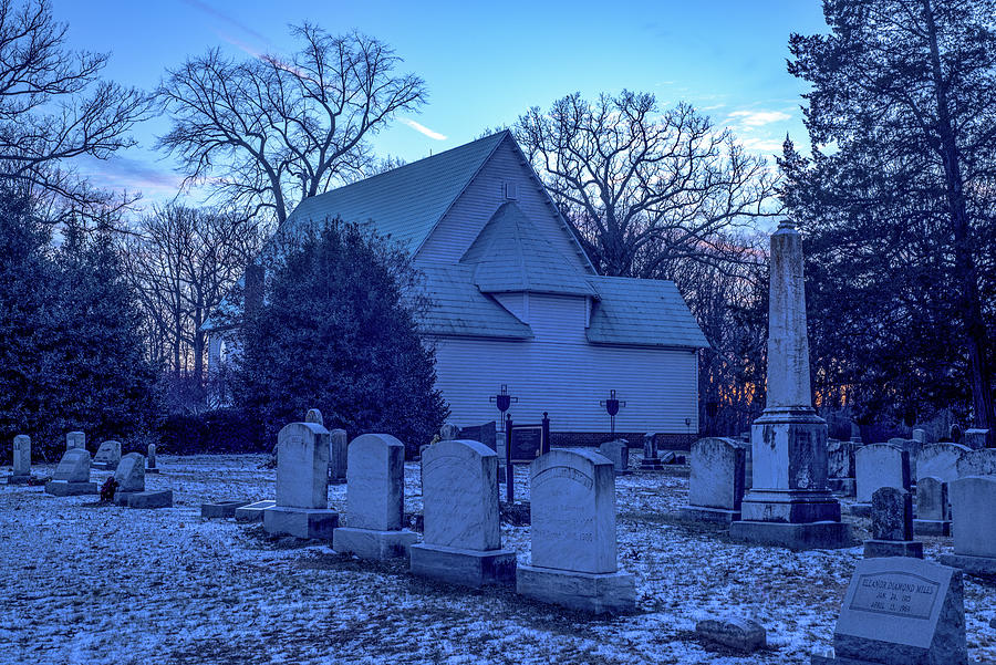
<instances>
[{"instance_id":1,"label":"large bare tree with spreading crown behind the church roof's left end","mask_svg":"<svg viewBox=\"0 0 996 665\"><path fill-rule=\"evenodd\" d=\"M414 74L383 42L332 37L304 23L289 60L243 62L212 50L168 73L158 96L173 114L160 147L179 157L188 183L212 177L216 194L270 211L278 225L293 206L372 165L367 139L400 111L426 98Z\"/></svg>"}]
</instances>

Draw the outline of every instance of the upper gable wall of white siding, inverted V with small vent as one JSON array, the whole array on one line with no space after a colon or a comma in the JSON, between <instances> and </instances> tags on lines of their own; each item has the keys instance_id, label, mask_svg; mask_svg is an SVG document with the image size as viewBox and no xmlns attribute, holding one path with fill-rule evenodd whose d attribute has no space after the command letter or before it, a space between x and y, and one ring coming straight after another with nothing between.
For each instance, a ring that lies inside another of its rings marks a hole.
<instances>
[{"instance_id":1,"label":"upper gable wall of white siding, inverted V with small vent","mask_svg":"<svg viewBox=\"0 0 996 665\"><path fill-rule=\"evenodd\" d=\"M480 169L464 194L439 220L415 256L421 261L456 263L470 247L495 211L505 202L505 184L516 183L516 204L572 266L589 272L588 263L578 256L578 246L569 231L561 228L560 218L547 205L539 183L530 177L528 166L519 162L518 153L505 141Z\"/></svg>"}]
</instances>

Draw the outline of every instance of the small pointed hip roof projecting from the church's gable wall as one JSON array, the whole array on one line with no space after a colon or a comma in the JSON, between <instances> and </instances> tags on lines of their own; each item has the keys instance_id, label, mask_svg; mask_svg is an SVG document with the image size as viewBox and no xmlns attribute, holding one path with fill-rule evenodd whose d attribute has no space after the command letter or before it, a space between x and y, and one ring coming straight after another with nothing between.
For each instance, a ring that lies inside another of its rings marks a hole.
<instances>
[{"instance_id":1,"label":"small pointed hip roof projecting from the church's gable wall","mask_svg":"<svg viewBox=\"0 0 996 665\"><path fill-rule=\"evenodd\" d=\"M511 201L491 216L460 263L474 266L474 283L484 293L598 295L585 276Z\"/></svg>"}]
</instances>

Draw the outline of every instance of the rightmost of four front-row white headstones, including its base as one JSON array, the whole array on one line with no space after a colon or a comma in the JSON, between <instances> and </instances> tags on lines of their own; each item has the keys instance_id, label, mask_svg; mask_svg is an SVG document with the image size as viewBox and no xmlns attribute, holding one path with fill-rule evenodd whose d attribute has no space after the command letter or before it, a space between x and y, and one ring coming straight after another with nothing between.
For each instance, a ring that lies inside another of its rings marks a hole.
<instances>
[{"instance_id":1,"label":"rightmost of four front-row white headstones, including its base","mask_svg":"<svg viewBox=\"0 0 996 665\"><path fill-rule=\"evenodd\" d=\"M532 561L519 565L516 591L588 612L630 612L633 575L615 550L615 474L588 450L551 450L529 465Z\"/></svg>"}]
</instances>

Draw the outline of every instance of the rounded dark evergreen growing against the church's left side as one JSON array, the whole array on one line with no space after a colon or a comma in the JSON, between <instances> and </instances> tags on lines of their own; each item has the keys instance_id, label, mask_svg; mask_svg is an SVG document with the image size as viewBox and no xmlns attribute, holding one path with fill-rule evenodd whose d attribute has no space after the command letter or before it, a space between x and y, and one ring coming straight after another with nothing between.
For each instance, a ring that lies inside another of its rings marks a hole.
<instances>
[{"instance_id":1,"label":"rounded dark evergreen growing against the church's left side","mask_svg":"<svg viewBox=\"0 0 996 665\"><path fill-rule=\"evenodd\" d=\"M247 294L236 402L268 441L308 408L355 436L384 432L409 453L448 411L435 389L435 354L416 332L417 273L402 249L334 220L305 236Z\"/></svg>"}]
</instances>

